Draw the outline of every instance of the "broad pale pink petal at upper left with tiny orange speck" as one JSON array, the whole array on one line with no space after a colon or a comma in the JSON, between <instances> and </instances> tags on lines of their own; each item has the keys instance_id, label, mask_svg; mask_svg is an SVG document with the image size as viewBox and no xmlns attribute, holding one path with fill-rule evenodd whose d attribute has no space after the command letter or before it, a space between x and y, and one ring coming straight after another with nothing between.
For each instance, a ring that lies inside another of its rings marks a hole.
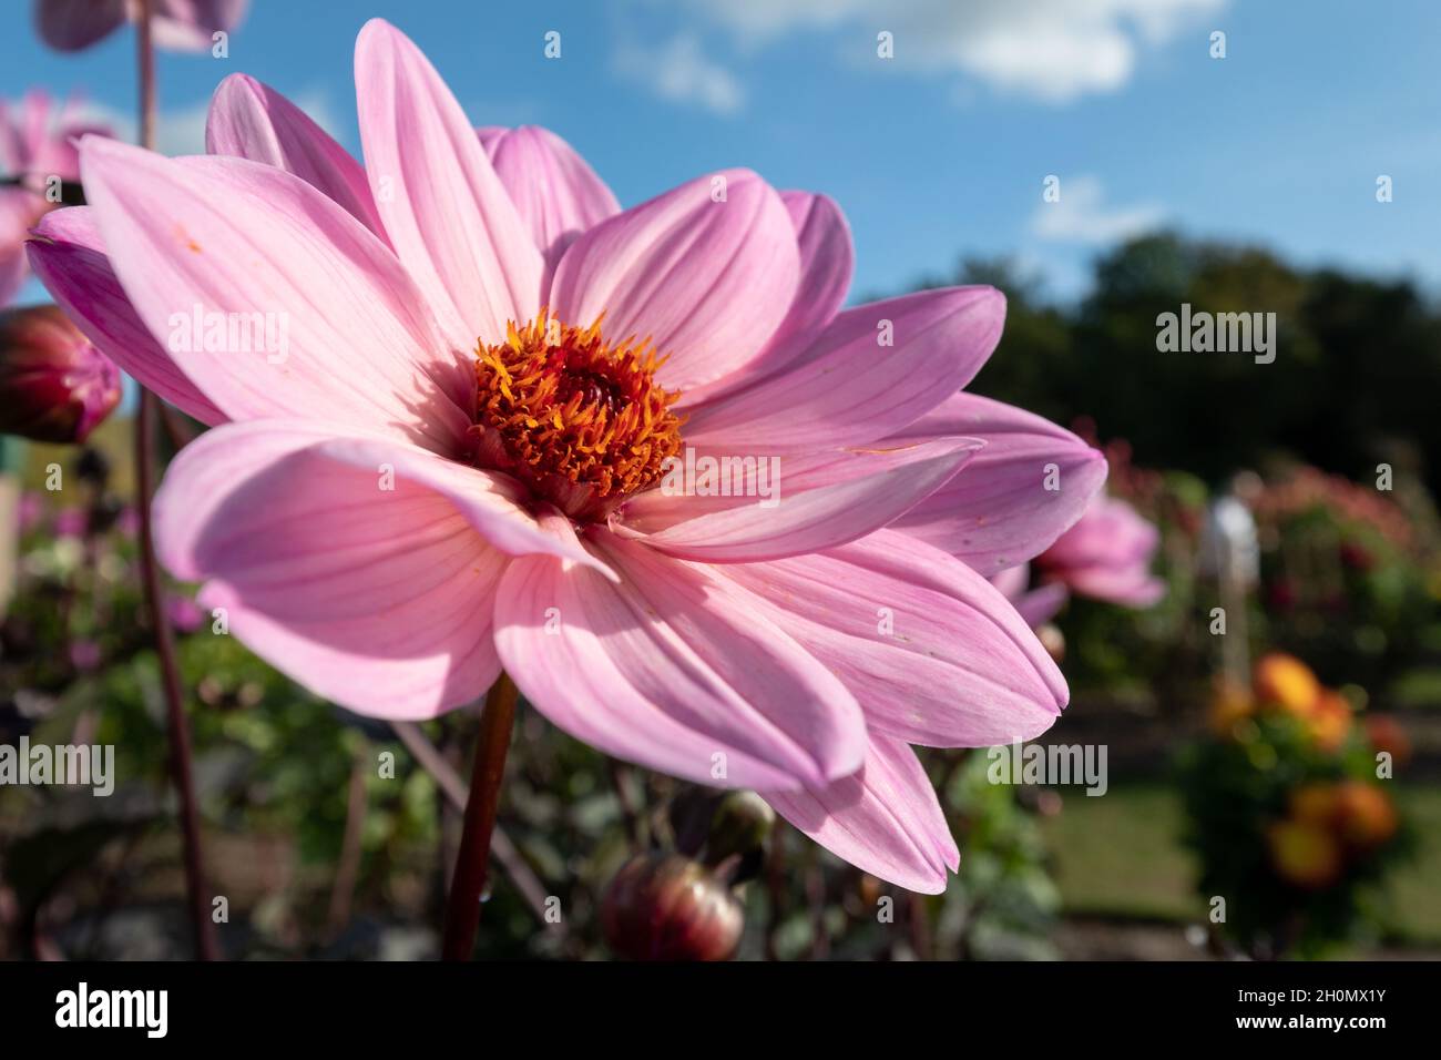
<instances>
[{"instance_id":1,"label":"broad pale pink petal at upper left with tiny orange speck","mask_svg":"<svg viewBox=\"0 0 1441 1060\"><path fill-rule=\"evenodd\" d=\"M468 366L395 255L331 199L245 159L177 163L95 137L81 167L137 314L229 418L324 420L458 447ZM274 342L209 352L192 336L186 352L197 309L235 324L262 314Z\"/></svg>"}]
</instances>

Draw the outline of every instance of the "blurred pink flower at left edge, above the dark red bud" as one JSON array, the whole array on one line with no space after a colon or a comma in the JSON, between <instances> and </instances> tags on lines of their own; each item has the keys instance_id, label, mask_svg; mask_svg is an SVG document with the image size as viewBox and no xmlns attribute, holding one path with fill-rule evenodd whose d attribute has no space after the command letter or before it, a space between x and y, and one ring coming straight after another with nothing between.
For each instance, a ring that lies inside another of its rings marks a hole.
<instances>
[{"instance_id":1,"label":"blurred pink flower at left edge, above the dark red bud","mask_svg":"<svg viewBox=\"0 0 1441 1060\"><path fill-rule=\"evenodd\" d=\"M79 154L72 138L86 133L110 134L84 121L72 105L55 110L49 94L26 92L19 102L0 100L0 306L9 303L29 274L24 239L46 211L59 205L50 198L58 177L79 180Z\"/></svg>"}]
</instances>

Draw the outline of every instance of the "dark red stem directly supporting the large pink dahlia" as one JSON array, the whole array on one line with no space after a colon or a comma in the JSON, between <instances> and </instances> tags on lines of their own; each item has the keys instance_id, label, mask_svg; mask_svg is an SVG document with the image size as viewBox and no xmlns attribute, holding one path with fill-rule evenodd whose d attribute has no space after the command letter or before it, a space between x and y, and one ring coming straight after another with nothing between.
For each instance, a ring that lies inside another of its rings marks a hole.
<instances>
[{"instance_id":1,"label":"dark red stem directly supporting the large pink dahlia","mask_svg":"<svg viewBox=\"0 0 1441 1060\"><path fill-rule=\"evenodd\" d=\"M480 898L486 887L490 860L490 834L496 828L500 806L500 780L506 773L506 753L516 720L514 682L501 673L486 695L480 712L480 737L476 743L476 766L470 776L470 798L465 800L465 825L455 858L450 903L445 909L445 960L468 960L476 949L476 929L480 927Z\"/></svg>"}]
</instances>

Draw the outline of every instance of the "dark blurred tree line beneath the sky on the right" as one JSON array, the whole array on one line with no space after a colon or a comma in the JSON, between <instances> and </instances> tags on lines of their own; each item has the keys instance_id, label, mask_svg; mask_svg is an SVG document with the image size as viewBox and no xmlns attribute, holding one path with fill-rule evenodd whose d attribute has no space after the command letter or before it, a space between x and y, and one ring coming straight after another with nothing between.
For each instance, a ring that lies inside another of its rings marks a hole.
<instances>
[{"instance_id":1,"label":"dark blurred tree line beneath the sky on the right","mask_svg":"<svg viewBox=\"0 0 1441 1060\"><path fill-rule=\"evenodd\" d=\"M1174 234L1095 264L1076 307L1045 304L1004 261L965 261L945 283L1007 294L1006 332L971 389L1062 424L1085 412L1153 467L1216 485L1275 450L1355 479L1380 460L1441 492L1441 310L1408 280L1306 270L1255 248ZM1161 353L1161 313L1274 312L1277 361Z\"/></svg>"}]
</instances>

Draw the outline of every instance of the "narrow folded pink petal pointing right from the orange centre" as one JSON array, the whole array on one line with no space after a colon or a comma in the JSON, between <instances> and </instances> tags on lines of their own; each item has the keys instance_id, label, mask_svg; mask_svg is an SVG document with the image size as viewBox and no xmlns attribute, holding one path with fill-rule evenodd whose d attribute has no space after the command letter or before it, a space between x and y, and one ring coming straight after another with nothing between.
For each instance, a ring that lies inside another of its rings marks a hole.
<instances>
[{"instance_id":1,"label":"narrow folded pink petal pointing right from the orange centre","mask_svg":"<svg viewBox=\"0 0 1441 1060\"><path fill-rule=\"evenodd\" d=\"M980 447L976 438L935 438L889 450L781 457L778 503L771 506L761 498L744 496L723 498L725 508L705 511L705 498L664 495L648 503L651 495L646 495L633 505L644 526L647 516L650 525L660 525L699 502L705 513L644 536L647 545L669 555L703 562L775 560L833 548L880 529L940 489ZM641 534L630 516L627 508L623 532Z\"/></svg>"}]
</instances>

